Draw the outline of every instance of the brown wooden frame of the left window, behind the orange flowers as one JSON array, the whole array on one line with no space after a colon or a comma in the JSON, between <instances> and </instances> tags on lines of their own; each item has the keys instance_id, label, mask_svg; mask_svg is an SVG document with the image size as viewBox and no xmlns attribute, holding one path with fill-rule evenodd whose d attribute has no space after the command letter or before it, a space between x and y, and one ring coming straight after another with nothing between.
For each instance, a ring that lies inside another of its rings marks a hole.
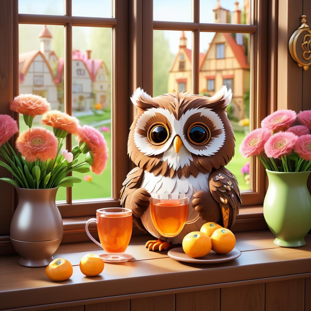
<instances>
[{"instance_id":1,"label":"brown wooden frame of the left window, behind the orange flowers","mask_svg":"<svg viewBox=\"0 0 311 311\"><path fill-rule=\"evenodd\" d=\"M57 206L62 217L95 215L96 209L117 207L120 205L119 192L126 174L129 171L127 156L128 124L128 1L112 0L112 17L81 17L72 16L72 0L64 0L64 15L41 15L18 13L18 0L12 1L13 6L13 83L14 96L19 94L18 80L18 25L63 25L64 26L64 102L65 112L72 114L72 27L106 27L112 29L112 77L111 77L111 183L112 196L89 200L72 200L72 189L66 190L66 201L58 201ZM18 120L18 114L14 117ZM117 139L118 138L118 139ZM71 134L66 138L66 148L71 150Z\"/></svg>"}]
</instances>

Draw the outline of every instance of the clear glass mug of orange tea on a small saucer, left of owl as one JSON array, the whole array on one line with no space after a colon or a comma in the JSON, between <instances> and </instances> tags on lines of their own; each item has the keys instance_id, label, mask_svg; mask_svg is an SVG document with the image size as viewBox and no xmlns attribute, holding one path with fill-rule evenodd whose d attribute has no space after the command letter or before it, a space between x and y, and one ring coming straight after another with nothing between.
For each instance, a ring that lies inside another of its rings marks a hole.
<instances>
[{"instance_id":1,"label":"clear glass mug of orange tea on a small saucer, left of owl","mask_svg":"<svg viewBox=\"0 0 311 311\"><path fill-rule=\"evenodd\" d=\"M97 224L100 243L90 234L88 226L91 222ZM132 235L132 211L122 207L101 208L96 211L96 218L86 222L85 230L88 237L107 254L100 257L104 262L124 262L131 260L132 255L125 254Z\"/></svg>"}]
</instances>

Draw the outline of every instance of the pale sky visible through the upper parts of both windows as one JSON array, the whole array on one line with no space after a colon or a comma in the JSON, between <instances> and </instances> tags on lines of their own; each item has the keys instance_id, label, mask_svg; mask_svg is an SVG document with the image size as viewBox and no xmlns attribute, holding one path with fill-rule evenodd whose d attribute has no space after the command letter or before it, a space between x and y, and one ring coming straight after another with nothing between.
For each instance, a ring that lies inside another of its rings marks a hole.
<instances>
[{"instance_id":1,"label":"pale sky visible through the upper parts of both windows","mask_svg":"<svg viewBox=\"0 0 311 311\"><path fill-rule=\"evenodd\" d=\"M243 10L243 1L240 0L239 7ZM191 22L191 0L154 0L153 18L162 21L186 21ZM220 4L225 9L234 10L235 0L220 0ZM63 14L63 0L19 0L19 12L31 14ZM72 14L74 16L95 16L95 17L111 17L111 0L72 0ZM217 0L201 0L200 1L200 21L204 23L213 22L213 8L216 6ZM83 31L88 34L88 29ZM176 54L179 50L180 31L167 31L165 37L169 39L169 49ZM201 32L200 34L200 52L204 53L215 33ZM192 35L186 32L187 45L191 49Z\"/></svg>"}]
</instances>

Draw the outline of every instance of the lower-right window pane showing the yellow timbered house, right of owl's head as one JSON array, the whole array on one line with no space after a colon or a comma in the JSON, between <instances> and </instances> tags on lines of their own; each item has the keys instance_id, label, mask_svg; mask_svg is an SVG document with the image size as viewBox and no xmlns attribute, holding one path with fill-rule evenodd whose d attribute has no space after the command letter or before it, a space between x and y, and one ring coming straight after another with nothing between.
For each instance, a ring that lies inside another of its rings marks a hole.
<instances>
[{"instance_id":1,"label":"lower-right window pane showing the yellow timbered house, right of owl's head","mask_svg":"<svg viewBox=\"0 0 311 311\"><path fill-rule=\"evenodd\" d=\"M200 52L203 53L199 71L200 94L213 96L223 85L232 90L227 112L234 129L236 146L235 155L227 168L238 179L241 190L249 189L249 161L242 158L239 152L239 146L249 132L248 43L248 34L200 33Z\"/></svg>"}]
</instances>

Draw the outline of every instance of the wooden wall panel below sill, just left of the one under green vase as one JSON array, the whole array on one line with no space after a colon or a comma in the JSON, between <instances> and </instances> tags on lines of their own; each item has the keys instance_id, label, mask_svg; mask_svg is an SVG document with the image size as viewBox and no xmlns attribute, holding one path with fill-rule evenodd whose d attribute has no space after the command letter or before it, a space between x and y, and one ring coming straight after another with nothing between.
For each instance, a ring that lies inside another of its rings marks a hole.
<instances>
[{"instance_id":1,"label":"wooden wall panel below sill, just left of the one under green vase","mask_svg":"<svg viewBox=\"0 0 311 311\"><path fill-rule=\"evenodd\" d=\"M220 290L221 311L263 311L265 284L226 287Z\"/></svg>"}]
</instances>

